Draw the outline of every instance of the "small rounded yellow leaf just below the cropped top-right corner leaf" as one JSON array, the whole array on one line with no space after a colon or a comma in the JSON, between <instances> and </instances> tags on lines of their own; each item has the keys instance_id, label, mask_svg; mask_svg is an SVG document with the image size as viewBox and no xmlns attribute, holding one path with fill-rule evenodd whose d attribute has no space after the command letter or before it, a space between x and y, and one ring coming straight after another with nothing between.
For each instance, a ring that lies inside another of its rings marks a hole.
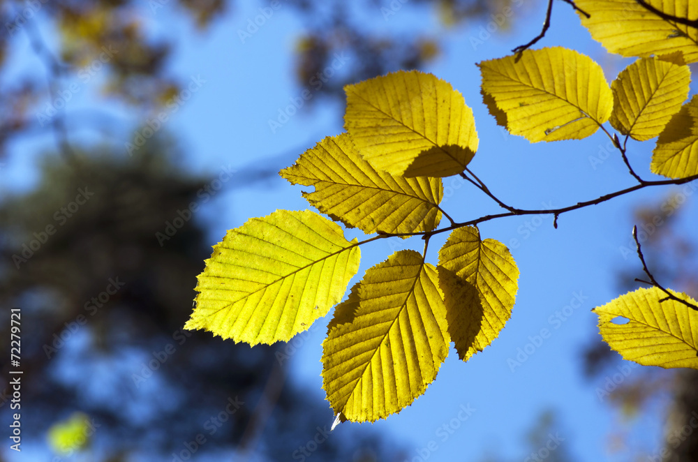
<instances>
[{"instance_id":1,"label":"small rounded yellow leaf just below the cropped top-right corner leaf","mask_svg":"<svg viewBox=\"0 0 698 462\"><path fill-rule=\"evenodd\" d=\"M681 109L690 82L688 66L657 58L638 59L611 83L611 125L634 140L658 136L671 116Z\"/></svg>"}]
</instances>

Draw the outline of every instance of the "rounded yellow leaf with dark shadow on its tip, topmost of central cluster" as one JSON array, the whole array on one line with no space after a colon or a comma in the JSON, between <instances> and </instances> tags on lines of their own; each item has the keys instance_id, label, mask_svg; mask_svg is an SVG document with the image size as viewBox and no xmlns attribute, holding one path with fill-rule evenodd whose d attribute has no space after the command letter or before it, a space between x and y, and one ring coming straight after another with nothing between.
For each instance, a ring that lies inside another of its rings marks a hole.
<instances>
[{"instance_id":1,"label":"rounded yellow leaf with dark shadow on its tip, topmost of central cluster","mask_svg":"<svg viewBox=\"0 0 698 462\"><path fill-rule=\"evenodd\" d=\"M344 125L378 170L405 177L463 172L477 151L473 110L450 83L417 70L344 87Z\"/></svg>"}]
</instances>

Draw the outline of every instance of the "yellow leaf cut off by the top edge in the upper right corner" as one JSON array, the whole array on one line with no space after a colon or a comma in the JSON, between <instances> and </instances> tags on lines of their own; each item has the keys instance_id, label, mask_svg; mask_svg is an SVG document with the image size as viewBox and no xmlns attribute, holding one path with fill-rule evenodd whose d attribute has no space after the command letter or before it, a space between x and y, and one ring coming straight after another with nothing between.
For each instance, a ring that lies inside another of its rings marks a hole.
<instances>
[{"instance_id":1,"label":"yellow leaf cut off by the top edge in the upper right corner","mask_svg":"<svg viewBox=\"0 0 698 462\"><path fill-rule=\"evenodd\" d=\"M646 0L663 13L695 20L695 0ZM577 0L590 17L579 14L594 40L625 57L683 54L685 63L698 61L698 29L663 19L635 0Z\"/></svg>"}]
</instances>

